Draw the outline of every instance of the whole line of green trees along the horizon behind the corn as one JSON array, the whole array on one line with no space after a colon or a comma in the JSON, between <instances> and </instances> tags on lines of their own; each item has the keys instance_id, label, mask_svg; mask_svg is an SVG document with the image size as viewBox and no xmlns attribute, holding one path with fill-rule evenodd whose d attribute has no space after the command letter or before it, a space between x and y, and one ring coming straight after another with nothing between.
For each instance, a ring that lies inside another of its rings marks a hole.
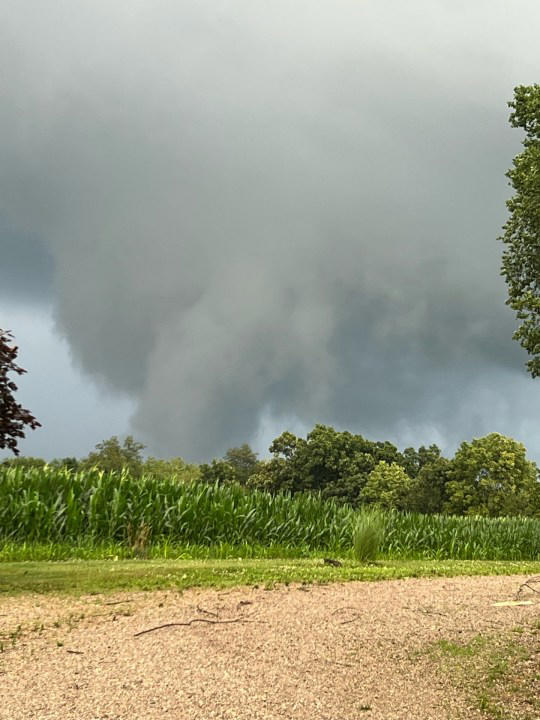
<instances>
[{"instance_id":1,"label":"whole line of green trees along the horizon behind the corn","mask_svg":"<svg viewBox=\"0 0 540 720\"><path fill-rule=\"evenodd\" d=\"M240 484L271 493L318 492L324 498L359 507L482 515L540 517L540 482L536 464L524 445L499 433L463 442L445 458L436 445L398 448L328 425L316 425L305 438L284 432L260 460L248 444L230 448L222 458L201 465L180 457L143 457L145 446L128 435L98 443L88 456L15 457L7 466L66 467L75 471L100 468L127 470L131 475L175 476L178 482Z\"/></svg>"}]
</instances>

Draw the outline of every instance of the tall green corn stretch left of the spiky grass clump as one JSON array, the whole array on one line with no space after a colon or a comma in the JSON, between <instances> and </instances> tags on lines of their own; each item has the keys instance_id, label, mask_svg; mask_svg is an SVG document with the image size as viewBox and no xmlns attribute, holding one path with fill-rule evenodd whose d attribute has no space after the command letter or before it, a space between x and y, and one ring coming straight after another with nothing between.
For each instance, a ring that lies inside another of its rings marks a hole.
<instances>
[{"instance_id":1,"label":"tall green corn stretch left of the spiky grass clump","mask_svg":"<svg viewBox=\"0 0 540 720\"><path fill-rule=\"evenodd\" d=\"M96 469L0 469L0 540L127 541L129 526L147 525L152 541L330 548L350 541L351 515L316 495L272 496L238 484Z\"/></svg>"}]
</instances>

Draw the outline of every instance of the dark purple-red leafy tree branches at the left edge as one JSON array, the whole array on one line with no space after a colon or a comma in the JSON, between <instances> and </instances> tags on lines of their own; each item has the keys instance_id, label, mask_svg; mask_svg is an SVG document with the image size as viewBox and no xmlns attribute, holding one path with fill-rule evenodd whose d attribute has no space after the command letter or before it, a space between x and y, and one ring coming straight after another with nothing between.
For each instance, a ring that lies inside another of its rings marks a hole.
<instances>
[{"instance_id":1,"label":"dark purple-red leafy tree branches at the left edge","mask_svg":"<svg viewBox=\"0 0 540 720\"><path fill-rule=\"evenodd\" d=\"M26 437L24 427L31 430L41 427L29 410L16 402L13 393L17 385L8 377L9 373L23 375L26 370L16 364L18 347L12 344L13 335L0 329L0 448L8 448L19 454L17 443Z\"/></svg>"}]
</instances>

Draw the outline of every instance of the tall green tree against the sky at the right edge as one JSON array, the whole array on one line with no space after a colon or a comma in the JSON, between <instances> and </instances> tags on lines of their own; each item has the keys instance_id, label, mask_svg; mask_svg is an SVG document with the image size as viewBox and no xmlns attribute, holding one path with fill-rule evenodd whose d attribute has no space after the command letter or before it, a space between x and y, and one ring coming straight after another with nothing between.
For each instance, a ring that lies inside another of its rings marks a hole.
<instances>
[{"instance_id":1,"label":"tall green tree against the sky at the right edge","mask_svg":"<svg viewBox=\"0 0 540 720\"><path fill-rule=\"evenodd\" d=\"M514 334L531 356L527 367L540 375L540 85L514 89L510 123L525 130L523 152L507 172L515 194L507 202L510 218L504 226L506 245L502 274L508 285L507 304L520 326Z\"/></svg>"}]
</instances>

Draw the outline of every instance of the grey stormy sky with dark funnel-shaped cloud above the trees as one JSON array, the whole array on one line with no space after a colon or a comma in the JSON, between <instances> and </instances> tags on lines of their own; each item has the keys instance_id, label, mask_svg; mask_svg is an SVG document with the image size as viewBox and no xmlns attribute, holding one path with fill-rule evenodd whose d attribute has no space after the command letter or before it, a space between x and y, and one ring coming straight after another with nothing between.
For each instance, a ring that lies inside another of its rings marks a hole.
<instances>
[{"instance_id":1,"label":"grey stormy sky with dark funnel-shaped cloud above the trees","mask_svg":"<svg viewBox=\"0 0 540 720\"><path fill-rule=\"evenodd\" d=\"M21 444L264 453L317 422L540 459L500 277L534 0L5 0Z\"/></svg>"}]
</instances>

